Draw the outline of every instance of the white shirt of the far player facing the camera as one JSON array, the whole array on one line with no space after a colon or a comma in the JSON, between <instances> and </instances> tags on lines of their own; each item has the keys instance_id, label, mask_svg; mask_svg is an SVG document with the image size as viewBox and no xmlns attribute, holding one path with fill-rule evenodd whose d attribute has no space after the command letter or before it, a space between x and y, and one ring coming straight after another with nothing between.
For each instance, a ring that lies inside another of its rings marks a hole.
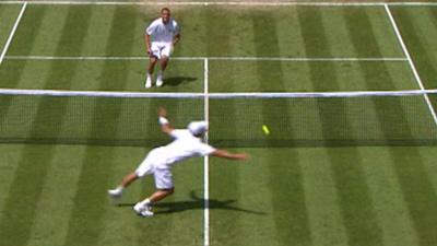
<instances>
[{"instance_id":1,"label":"white shirt of the far player facing the camera","mask_svg":"<svg viewBox=\"0 0 437 246\"><path fill-rule=\"evenodd\" d=\"M158 17L145 28L145 33L152 36L152 42L168 44L179 34L179 25L174 19L164 24L163 19Z\"/></svg>"}]
</instances>

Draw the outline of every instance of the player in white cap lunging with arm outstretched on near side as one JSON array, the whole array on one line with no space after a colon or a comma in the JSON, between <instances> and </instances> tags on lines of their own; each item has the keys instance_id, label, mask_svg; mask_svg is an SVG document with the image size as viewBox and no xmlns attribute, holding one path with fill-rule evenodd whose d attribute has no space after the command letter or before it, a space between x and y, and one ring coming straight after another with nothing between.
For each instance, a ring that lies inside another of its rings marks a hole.
<instances>
[{"instance_id":1,"label":"player in white cap lunging with arm outstretched on near side","mask_svg":"<svg viewBox=\"0 0 437 246\"><path fill-rule=\"evenodd\" d=\"M158 109L158 122L163 132L174 138L167 145L153 149L140 166L131 174L128 174L121 184L108 190L111 198L119 198L126 187L138 178L145 175L153 175L156 190L143 201L138 202L133 210L142 216L152 216L152 204L168 197L175 191L172 179L172 166L178 162L193 156L213 155L229 160L245 160L244 153L229 153L225 150L215 149L204 142L202 137L208 130L205 121L192 121L187 129L174 129L168 120L165 108Z\"/></svg>"}]
</instances>

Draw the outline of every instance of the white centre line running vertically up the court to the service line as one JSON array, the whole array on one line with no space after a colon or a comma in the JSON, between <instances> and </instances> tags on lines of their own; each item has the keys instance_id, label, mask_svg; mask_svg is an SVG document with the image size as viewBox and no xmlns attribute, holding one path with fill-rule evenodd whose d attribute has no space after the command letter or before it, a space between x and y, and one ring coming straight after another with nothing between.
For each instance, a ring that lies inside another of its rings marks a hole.
<instances>
[{"instance_id":1,"label":"white centre line running vertically up the court to the service line","mask_svg":"<svg viewBox=\"0 0 437 246\"><path fill-rule=\"evenodd\" d=\"M210 99L209 99L209 66L208 59L203 61L203 83L204 83L204 120L210 122ZM205 132L205 142L209 141L209 133ZM208 155L203 157L203 196L204 196L204 211L203 211L203 246L210 245L210 159Z\"/></svg>"}]
</instances>

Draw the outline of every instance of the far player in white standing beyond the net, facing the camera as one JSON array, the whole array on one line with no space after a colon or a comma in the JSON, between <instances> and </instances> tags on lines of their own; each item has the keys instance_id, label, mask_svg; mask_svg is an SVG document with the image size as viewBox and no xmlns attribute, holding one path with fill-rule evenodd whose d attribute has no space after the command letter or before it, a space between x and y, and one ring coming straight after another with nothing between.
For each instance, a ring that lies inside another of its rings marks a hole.
<instances>
[{"instance_id":1,"label":"far player in white standing beyond the net, facing the camera","mask_svg":"<svg viewBox=\"0 0 437 246\"><path fill-rule=\"evenodd\" d=\"M157 72L156 86L162 86L164 81L164 71L168 65L168 58L173 52L173 47L180 39L180 30L176 21L170 17L170 10L164 8L161 10L161 17L153 21L144 33L144 42L150 56L147 68L147 78L145 87L152 86L152 74L156 62L160 60L161 70Z\"/></svg>"}]
</instances>

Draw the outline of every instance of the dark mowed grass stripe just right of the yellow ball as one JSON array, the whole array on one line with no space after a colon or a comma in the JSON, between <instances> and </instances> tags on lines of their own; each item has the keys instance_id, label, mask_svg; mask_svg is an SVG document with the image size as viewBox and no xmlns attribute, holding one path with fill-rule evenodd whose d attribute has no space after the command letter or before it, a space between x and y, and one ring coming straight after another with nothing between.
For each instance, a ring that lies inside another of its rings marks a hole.
<instances>
[{"instance_id":1,"label":"dark mowed grass stripe just right of the yellow ball","mask_svg":"<svg viewBox=\"0 0 437 246\"><path fill-rule=\"evenodd\" d=\"M271 13L259 12L252 15L253 34L256 40L257 56L280 57L279 38L275 20ZM265 33L264 31L269 31ZM262 42L261 42L262 40ZM268 52L268 54L265 54ZM285 83L281 63L257 62L257 71L260 83ZM272 81L272 74L275 74ZM261 87L264 87L261 85ZM268 89L269 85L265 85ZM272 99L262 103L262 110L269 115L271 108L282 108L284 113L290 112L288 104L283 99ZM285 124L290 125L287 115L284 115ZM272 119L273 120L273 119ZM265 122L274 126L275 122ZM277 128L279 129L279 128ZM270 140L267 140L268 142ZM274 141L274 140L272 140ZM269 143L268 143L269 144ZM311 233L307 207L305 203L305 190L303 187L303 175L296 154L288 155L286 167L279 167L279 163L270 163L269 184L272 190L272 204L274 206L274 220L283 245L311 245ZM277 156L271 156L276 160Z\"/></svg>"}]
</instances>

